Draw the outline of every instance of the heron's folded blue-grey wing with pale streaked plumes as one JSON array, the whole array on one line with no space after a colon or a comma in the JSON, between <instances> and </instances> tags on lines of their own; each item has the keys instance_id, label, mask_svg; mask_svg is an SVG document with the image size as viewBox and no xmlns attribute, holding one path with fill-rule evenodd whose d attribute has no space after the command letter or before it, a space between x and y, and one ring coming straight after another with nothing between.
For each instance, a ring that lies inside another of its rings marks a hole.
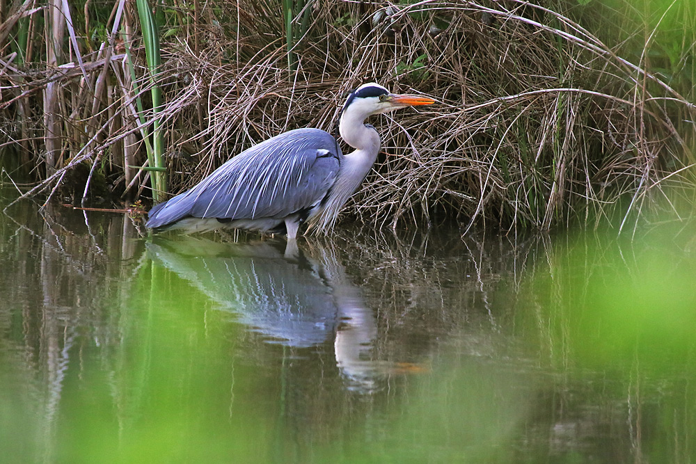
<instances>
[{"instance_id":1,"label":"heron's folded blue-grey wing with pale streaked plumes","mask_svg":"<svg viewBox=\"0 0 696 464\"><path fill-rule=\"evenodd\" d=\"M187 216L284 218L322 201L338 175L340 148L319 129L295 129L238 154L193 189L150 210L148 227Z\"/></svg>"}]
</instances>

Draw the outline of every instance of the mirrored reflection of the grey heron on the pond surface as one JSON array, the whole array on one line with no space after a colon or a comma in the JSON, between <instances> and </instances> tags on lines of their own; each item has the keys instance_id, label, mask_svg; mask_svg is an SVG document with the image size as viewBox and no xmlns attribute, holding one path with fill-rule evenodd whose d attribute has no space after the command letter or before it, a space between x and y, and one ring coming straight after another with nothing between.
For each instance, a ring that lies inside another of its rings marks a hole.
<instances>
[{"instance_id":1,"label":"mirrored reflection of the grey heron on the pond surface","mask_svg":"<svg viewBox=\"0 0 696 464\"><path fill-rule=\"evenodd\" d=\"M220 243L178 236L147 244L155 261L191 282L221 310L267 337L294 348L333 337L335 360L348 387L370 392L388 371L371 359L374 313L351 284L333 248L320 241L290 256L285 243Z\"/></svg>"}]
</instances>

